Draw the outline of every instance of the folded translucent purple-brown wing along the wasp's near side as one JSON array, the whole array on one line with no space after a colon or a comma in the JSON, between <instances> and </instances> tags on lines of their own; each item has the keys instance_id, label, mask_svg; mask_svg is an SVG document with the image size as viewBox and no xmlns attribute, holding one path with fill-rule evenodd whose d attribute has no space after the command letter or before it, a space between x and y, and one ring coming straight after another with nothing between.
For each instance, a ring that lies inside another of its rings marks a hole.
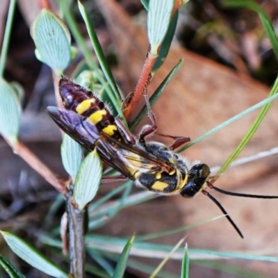
<instances>
[{"instance_id":1,"label":"folded translucent purple-brown wing along the wasp's near side","mask_svg":"<svg viewBox=\"0 0 278 278\"><path fill-rule=\"evenodd\" d=\"M101 159L118 172L134 180L134 172L170 172L172 165L147 154L143 149L115 140L74 111L64 108L47 108L53 120L82 147L92 151L97 147Z\"/></svg>"}]
</instances>

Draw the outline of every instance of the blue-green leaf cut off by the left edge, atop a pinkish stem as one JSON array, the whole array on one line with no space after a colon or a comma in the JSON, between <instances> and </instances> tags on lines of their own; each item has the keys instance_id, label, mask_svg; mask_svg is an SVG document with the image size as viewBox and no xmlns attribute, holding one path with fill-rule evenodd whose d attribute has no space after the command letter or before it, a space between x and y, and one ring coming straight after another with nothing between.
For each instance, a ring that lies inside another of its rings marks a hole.
<instances>
[{"instance_id":1,"label":"blue-green leaf cut off by the left edge, atop a pinkish stem","mask_svg":"<svg viewBox=\"0 0 278 278\"><path fill-rule=\"evenodd\" d=\"M17 143L22 108L17 92L3 79L0 79L0 99L0 132L14 145Z\"/></svg>"}]
</instances>

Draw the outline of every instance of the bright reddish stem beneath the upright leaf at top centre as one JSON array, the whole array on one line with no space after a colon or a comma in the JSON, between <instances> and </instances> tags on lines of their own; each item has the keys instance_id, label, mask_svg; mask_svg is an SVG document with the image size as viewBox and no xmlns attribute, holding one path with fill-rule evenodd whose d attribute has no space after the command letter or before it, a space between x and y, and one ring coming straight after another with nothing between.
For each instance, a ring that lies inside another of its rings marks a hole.
<instances>
[{"instance_id":1,"label":"bright reddish stem beneath the upright leaf at top centre","mask_svg":"<svg viewBox=\"0 0 278 278\"><path fill-rule=\"evenodd\" d=\"M156 58L157 56L154 57L148 53L145 64L142 68L142 72L136 84L136 88L133 90L133 92L129 96L129 99L124 104L123 113L126 120L129 120L129 118L131 117L131 113L134 111L134 108L136 108L140 97L147 88L147 85L152 77L152 68L154 67Z\"/></svg>"}]
</instances>

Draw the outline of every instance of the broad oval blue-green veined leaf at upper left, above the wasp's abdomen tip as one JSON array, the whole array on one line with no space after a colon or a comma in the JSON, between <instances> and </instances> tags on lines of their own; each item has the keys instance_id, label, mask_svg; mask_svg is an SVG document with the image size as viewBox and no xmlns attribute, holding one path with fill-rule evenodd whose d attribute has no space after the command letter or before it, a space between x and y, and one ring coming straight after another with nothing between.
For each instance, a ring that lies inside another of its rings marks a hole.
<instances>
[{"instance_id":1,"label":"broad oval blue-green veined leaf at upper left, above the wasp's abdomen tip","mask_svg":"<svg viewBox=\"0 0 278 278\"><path fill-rule=\"evenodd\" d=\"M42 9L31 26L31 36L37 58L57 72L65 70L70 63L72 49L70 32L64 22L49 10Z\"/></svg>"}]
</instances>

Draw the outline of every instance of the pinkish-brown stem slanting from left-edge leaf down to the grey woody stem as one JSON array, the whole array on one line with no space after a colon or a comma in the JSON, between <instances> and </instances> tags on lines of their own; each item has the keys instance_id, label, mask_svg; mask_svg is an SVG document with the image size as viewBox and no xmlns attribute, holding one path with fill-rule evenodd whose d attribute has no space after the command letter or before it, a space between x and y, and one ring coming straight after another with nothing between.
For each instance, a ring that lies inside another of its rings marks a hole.
<instances>
[{"instance_id":1,"label":"pinkish-brown stem slanting from left-edge leaf down to the grey woody stem","mask_svg":"<svg viewBox=\"0 0 278 278\"><path fill-rule=\"evenodd\" d=\"M7 140L8 142L8 140ZM9 143L9 142L8 142ZM52 172L47 165L42 163L40 159L33 154L22 142L17 142L15 145L11 145L13 152L19 155L28 165L30 165L35 171L37 171L46 181L48 181L51 186L54 186L58 192L65 194L67 191L65 181L58 179L56 174Z\"/></svg>"}]
</instances>

